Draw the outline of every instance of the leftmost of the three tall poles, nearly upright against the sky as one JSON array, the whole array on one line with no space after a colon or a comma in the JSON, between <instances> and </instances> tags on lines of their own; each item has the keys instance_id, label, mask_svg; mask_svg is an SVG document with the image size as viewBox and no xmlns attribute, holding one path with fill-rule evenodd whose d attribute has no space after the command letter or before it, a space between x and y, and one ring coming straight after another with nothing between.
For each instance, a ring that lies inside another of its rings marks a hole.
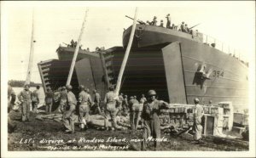
<instances>
[{"instance_id":1,"label":"leftmost of the three tall poles, nearly upright against the sky","mask_svg":"<svg viewBox=\"0 0 256 158\"><path fill-rule=\"evenodd\" d=\"M32 62L33 62L33 55L34 55L34 42L36 41L34 40L34 9L33 9L32 10L32 37L31 37L30 54L29 54L25 84L30 84L31 82Z\"/></svg>"}]
</instances>

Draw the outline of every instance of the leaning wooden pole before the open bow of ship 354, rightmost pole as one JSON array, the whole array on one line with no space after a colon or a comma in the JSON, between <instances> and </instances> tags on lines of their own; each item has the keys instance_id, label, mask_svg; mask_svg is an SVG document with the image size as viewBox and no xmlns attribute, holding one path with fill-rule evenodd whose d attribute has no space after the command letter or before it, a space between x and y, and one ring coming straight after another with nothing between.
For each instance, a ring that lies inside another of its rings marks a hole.
<instances>
[{"instance_id":1,"label":"leaning wooden pole before the open bow of ship 354, rightmost pole","mask_svg":"<svg viewBox=\"0 0 256 158\"><path fill-rule=\"evenodd\" d=\"M119 71L119 77L118 77L116 88L115 88L115 94L116 95L119 94L120 85L121 85L121 82L122 82L122 77L123 77L123 74L124 74L124 71L125 71L125 65L127 63L127 59L128 59L128 56L129 56L130 50L131 50L131 44L132 44L134 33L135 33L136 23L137 23L137 8L135 8L135 14L134 14L134 18L133 18L133 25L132 25L132 29L131 29L131 35L130 35L130 39L129 39L129 42L128 42L128 46L127 46L126 51L125 51L125 57L123 59L123 63L121 65L121 68L120 68L120 71Z\"/></svg>"}]
</instances>

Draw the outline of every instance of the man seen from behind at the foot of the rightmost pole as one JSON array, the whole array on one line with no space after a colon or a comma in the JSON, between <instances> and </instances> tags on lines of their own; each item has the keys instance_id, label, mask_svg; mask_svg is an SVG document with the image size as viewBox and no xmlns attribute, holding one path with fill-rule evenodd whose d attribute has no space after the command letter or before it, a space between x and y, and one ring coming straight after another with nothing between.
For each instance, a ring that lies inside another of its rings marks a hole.
<instances>
[{"instance_id":1,"label":"man seen from behind at the foot of the rightmost pole","mask_svg":"<svg viewBox=\"0 0 256 158\"><path fill-rule=\"evenodd\" d=\"M119 97L113 92L114 87L109 87L109 92L106 93L104 103L106 104L105 109L105 127L108 130L108 117L111 118L112 130L117 128L116 126L116 115L120 106Z\"/></svg>"}]
</instances>

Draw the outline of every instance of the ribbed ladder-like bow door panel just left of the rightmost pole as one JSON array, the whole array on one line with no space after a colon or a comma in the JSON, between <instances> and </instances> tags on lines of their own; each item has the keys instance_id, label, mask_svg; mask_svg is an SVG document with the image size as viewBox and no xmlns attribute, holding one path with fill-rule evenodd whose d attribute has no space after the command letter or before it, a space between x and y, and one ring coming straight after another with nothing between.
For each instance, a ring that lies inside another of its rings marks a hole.
<instances>
[{"instance_id":1,"label":"ribbed ladder-like bow door panel just left of the rightmost pole","mask_svg":"<svg viewBox=\"0 0 256 158\"><path fill-rule=\"evenodd\" d=\"M113 70L113 54L100 52L100 57L102 59L102 66L104 70L105 81L108 87L116 85L116 77Z\"/></svg>"}]
</instances>

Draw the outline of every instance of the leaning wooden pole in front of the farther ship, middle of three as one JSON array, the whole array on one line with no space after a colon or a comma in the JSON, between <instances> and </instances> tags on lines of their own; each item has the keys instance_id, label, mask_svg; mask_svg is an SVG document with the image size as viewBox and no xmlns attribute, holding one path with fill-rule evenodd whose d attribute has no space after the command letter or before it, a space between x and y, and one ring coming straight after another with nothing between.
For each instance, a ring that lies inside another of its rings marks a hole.
<instances>
[{"instance_id":1,"label":"leaning wooden pole in front of the farther ship, middle of three","mask_svg":"<svg viewBox=\"0 0 256 158\"><path fill-rule=\"evenodd\" d=\"M70 71L69 71L69 74L67 76L67 85L69 85L70 82L71 82L74 65L76 63L76 60L77 60L77 57L78 57L78 54L79 54L79 46L80 46L80 42L81 42L83 32L84 32L84 25L85 25L85 22L86 22L87 13L88 13L88 9L85 10L84 22L83 22L83 25L82 25L82 28L81 28L81 32L80 32L80 35L79 35L78 43L77 43L76 48L75 48L75 52L73 54L73 60L72 60L71 66L70 66Z\"/></svg>"}]
</instances>

